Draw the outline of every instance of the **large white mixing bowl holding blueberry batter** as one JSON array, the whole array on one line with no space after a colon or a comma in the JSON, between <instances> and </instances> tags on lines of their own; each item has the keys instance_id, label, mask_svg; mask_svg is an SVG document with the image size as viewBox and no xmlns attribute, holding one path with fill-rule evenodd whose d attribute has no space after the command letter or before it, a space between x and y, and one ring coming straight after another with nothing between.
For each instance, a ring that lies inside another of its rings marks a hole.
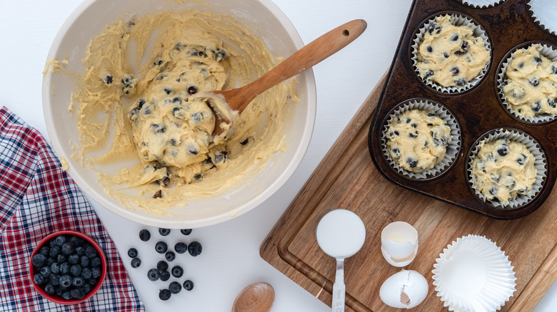
<instances>
[{"instance_id":1,"label":"large white mixing bowl holding blueberry batter","mask_svg":"<svg viewBox=\"0 0 557 312\"><path fill-rule=\"evenodd\" d=\"M47 60L67 59L66 68L84 72L81 60L87 44L103 28L126 14L144 15L164 9L193 7L201 11L214 11L234 16L263 38L275 56L290 56L303 46L303 42L288 18L269 0L206 0L210 6L199 3L179 4L169 0L86 0L61 27L52 43ZM271 197L293 174L305 154L316 114L316 88L313 71L298 76L298 95L301 103L289 116L284 128L286 151L278 152L265 167L241 186L219 197L193 200L186 207L170 207L168 216L156 216L143 209L126 209L117 199L106 194L97 182L94 170L71 157L75 152L70 142L79 142L76 120L68 112L75 80L65 73L47 73L43 80L43 107L46 127L56 153L69 162L69 175L96 202L121 217L156 227L196 228L217 224L237 217ZM54 91L54 92L53 92ZM285 203L287 204L287 203Z\"/></svg>"}]
</instances>

